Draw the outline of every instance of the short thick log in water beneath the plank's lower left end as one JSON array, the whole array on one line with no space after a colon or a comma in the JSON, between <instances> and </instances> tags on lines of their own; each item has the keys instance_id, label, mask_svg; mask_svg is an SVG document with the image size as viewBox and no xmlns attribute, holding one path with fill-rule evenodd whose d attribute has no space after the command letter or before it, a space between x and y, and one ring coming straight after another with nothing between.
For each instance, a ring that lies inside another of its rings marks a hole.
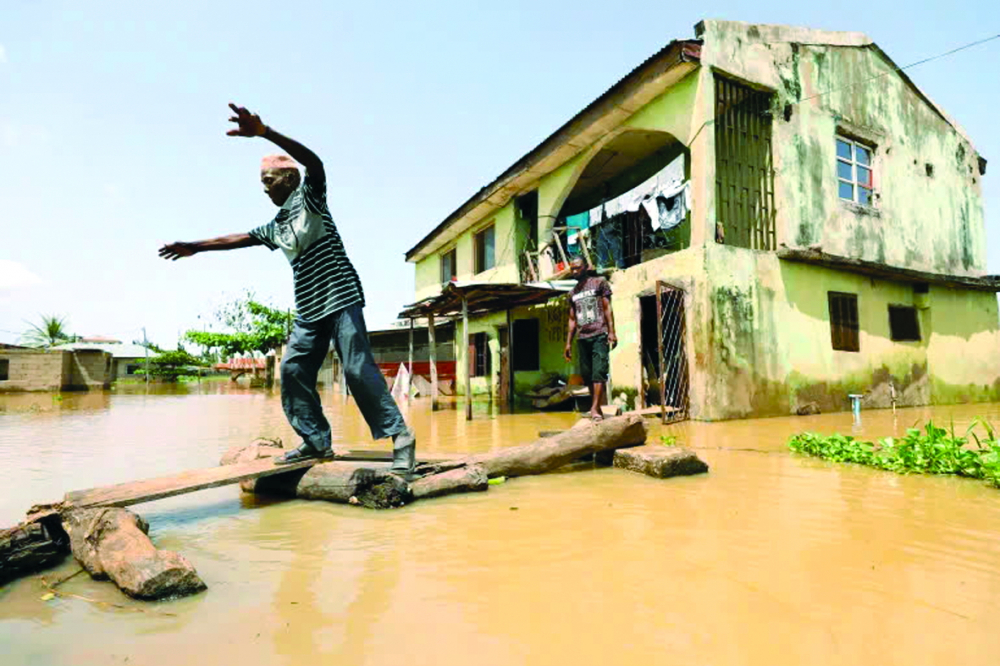
<instances>
[{"instance_id":1,"label":"short thick log in water beneath the plank's lower left end","mask_svg":"<svg viewBox=\"0 0 1000 666\"><path fill-rule=\"evenodd\" d=\"M63 514L73 556L95 579L111 579L136 599L183 597L205 589L184 556L157 550L149 525L127 509L77 509Z\"/></svg>"}]
</instances>

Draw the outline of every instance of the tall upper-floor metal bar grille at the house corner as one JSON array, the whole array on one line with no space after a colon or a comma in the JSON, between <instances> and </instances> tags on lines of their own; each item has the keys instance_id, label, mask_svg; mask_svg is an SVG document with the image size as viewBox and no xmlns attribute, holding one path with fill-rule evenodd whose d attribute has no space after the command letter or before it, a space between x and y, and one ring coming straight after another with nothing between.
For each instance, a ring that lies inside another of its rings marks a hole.
<instances>
[{"instance_id":1,"label":"tall upper-floor metal bar grille at the house corner","mask_svg":"<svg viewBox=\"0 0 1000 666\"><path fill-rule=\"evenodd\" d=\"M771 94L715 77L716 240L754 250L777 246Z\"/></svg>"}]
</instances>

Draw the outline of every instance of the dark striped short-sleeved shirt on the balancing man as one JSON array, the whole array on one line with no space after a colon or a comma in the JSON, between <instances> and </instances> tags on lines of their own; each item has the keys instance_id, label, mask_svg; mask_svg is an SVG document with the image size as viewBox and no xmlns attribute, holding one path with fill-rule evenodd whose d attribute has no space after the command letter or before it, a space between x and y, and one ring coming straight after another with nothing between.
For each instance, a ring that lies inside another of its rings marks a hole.
<instances>
[{"instance_id":1,"label":"dark striped short-sleeved shirt on the balancing man","mask_svg":"<svg viewBox=\"0 0 1000 666\"><path fill-rule=\"evenodd\" d=\"M250 232L271 250L281 248L295 276L295 309L317 321L346 307L365 304L361 280L326 206L326 176L306 171L301 187L278 214Z\"/></svg>"}]
</instances>

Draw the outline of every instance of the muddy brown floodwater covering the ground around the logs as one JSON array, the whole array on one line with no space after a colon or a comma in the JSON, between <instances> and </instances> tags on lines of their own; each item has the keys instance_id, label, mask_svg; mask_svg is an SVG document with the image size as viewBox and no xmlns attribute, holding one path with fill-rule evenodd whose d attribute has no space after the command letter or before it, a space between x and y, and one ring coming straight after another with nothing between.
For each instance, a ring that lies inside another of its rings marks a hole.
<instances>
[{"instance_id":1,"label":"muddy brown floodwater covering the ground around the logs","mask_svg":"<svg viewBox=\"0 0 1000 666\"><path fill-rule=\"evenodd\" d=\"M324 400L335 442L372 446L353 404ZM407 416L424 453L575 420L480 408L467 423L420 401ZM977 416L1000 422L1000 405L682 424L669 432L709 474L581 465L385 512L234 487L141 505L208 591L143 604L86 576L61 588L116 608L42 601L23 579L0 589L0 662L993 665L1000 491L786 450L802 430L878 437ZM277 396L226 384L2 396L0 525L67 490L215 465L259 435L292 439Z\"/></svg>"}]
</instances>

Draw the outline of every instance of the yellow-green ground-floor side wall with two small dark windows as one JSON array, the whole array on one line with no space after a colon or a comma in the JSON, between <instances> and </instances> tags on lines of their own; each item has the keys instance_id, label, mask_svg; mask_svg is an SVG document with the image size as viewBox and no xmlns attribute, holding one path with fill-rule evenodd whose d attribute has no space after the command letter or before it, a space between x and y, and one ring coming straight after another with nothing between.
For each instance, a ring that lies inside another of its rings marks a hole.
<instances>
[{"instance_id":1,"label":"yellow-green ground-floor side wall with two small dark windows","mask_svg":"<svg viewBox=\"0 0 1000 666\"><path fill-rule=\"evenodd\" d=\"M705 337L696 342L707 420L849 407L1000 399L1000 326L990 293L931 287L918 309L921 340L891 340L889 305L914 305L913 286L782 262L771 253L706 248ZM827 293L858 297L859 352L835 351Z\"/></svg>"}]
</instances>

